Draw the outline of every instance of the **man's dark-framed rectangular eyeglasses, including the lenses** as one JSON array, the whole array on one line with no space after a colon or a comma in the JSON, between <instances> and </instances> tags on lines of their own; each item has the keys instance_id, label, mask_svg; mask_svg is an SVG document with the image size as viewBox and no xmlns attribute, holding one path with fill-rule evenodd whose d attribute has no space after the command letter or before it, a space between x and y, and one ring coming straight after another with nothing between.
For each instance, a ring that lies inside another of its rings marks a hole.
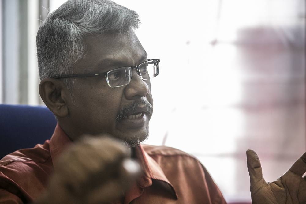
<instances>
[{"instance_id":1,"label":"man's dark-framed rectangular eyeglasses, including the lenses","mask_svg":"<svg viewBox=\"0 0 306 204\"><path fill-rule=\"evenodd\" d=\"M130 83L132 79L132 69L136 70L142 80L156 77L159 74L159 59L148 59L136 66L119 67L107 72L90 73L90 74L71 74L55 77L56 79L71 77L97 77L105 76L107 84L110 87L120 87Z\"/></svg>"}]
</instances>

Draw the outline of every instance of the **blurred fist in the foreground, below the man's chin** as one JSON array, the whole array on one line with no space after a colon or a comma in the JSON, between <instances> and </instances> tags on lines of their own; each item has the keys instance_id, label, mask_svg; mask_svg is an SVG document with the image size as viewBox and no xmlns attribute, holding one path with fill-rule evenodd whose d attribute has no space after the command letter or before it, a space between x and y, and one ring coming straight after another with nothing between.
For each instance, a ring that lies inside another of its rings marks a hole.
<instances>
[{"instance_id":1,"label":"blurred fist in the foreground, below the man's chin","mask_svg":"<svg viewBox=\"0 0 306 204\"><path fill-rule=\"evenodd\" d=\"M109 137L85 136L56 161L46 193L36 203L110 203L124 196L140 166Z\"/></svg>"}]
</instances>

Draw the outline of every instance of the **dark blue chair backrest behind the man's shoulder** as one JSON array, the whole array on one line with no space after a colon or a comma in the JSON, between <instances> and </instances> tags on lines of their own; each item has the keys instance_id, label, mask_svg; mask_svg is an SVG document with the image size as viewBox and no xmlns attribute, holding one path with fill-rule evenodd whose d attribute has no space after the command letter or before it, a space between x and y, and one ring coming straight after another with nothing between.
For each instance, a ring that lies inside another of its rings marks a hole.
<instances>
[{"instance_id":1,"label":"dark blue chair backrest behind the man's shoulder","mask_svg":"<svg viewBox=\"0 0 306 204\"><path fill-rule=\"evenodd\" d=\"M0 159L18 149L43 144L56 123L46 107L0 104Z\"/></svg>"}]
</instances>

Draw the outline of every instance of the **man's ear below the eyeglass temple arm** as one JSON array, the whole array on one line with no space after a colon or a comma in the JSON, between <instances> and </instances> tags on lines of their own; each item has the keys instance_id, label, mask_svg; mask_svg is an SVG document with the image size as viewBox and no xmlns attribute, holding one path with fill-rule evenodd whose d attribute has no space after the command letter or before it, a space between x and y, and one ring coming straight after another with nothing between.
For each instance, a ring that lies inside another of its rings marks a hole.
<instances>
[{"instance_id":1,"label":"man's ear below the eyeglass temple arm","mask_svg":"<svg viewBox=\"0 0 306 204\"><path fill-rule=\"evenodd\" d=\"M70 97L70 94L64 82L58 79L43 79L39 84L39 95L57 117L63 118L69 114L66 96Z\"/></svg>"}]
</instances>

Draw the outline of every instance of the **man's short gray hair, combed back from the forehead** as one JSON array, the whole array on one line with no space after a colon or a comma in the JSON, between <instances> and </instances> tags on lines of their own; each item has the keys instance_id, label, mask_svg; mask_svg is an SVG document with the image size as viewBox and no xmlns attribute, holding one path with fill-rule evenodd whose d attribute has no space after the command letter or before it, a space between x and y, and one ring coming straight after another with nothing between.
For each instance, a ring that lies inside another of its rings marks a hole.
<instances>
[{"instance_id":1,"label":"man's short gray hair, combed back from the forehead","mask_svg":"<svg viewBox=\"0 0 306 204\"><path fill-rule=\"evenodd\" d=\"M69 0L49 13L37 36L40 80L73 74L86 54L83 40L106 32L126 33L139 27L135 11L110 0ZM66 80L69 84L69 80ZM68 85L69 88L69 85Z\"/></svg>"}]
</instances>

